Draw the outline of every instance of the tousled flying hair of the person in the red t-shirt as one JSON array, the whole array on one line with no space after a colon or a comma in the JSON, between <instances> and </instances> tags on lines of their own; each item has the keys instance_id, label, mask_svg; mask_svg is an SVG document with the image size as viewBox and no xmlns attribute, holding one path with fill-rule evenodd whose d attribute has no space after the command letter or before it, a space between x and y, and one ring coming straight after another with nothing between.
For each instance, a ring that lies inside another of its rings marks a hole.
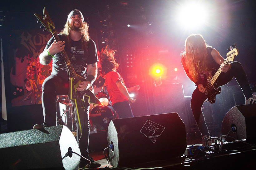
<instances>
[{"instance_id":1,"label":"tousled flying hair of the person in the red t-shirt","mask_svg":"<svg viewBox=\"0 0 256 170\"><path fill-rule=\"evenodd\" d=\"M114 70L117 69L119 64L116 62L114 56L117 51L110 49L107 50L106 48L101 49L100 53L100 63L101 63L101 76L105 77L105 75Z\"/></svg>"}]
</instances>

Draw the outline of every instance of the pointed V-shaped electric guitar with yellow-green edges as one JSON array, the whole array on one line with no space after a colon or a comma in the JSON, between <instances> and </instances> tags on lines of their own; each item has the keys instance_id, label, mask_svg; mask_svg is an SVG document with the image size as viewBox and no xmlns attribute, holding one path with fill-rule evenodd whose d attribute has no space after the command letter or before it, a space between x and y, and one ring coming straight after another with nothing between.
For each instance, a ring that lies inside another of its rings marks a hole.
<instances>
[{"instance_id":1,"label":"pointed V-shaped electric guitar with yellow-green edges","mask_svg":"<svg viewBox=\"0 0 256 170\"><path fill-rule=\"evenodd\" d=\"M44 26L44 31L47 30L51 32L56 42L60 41L60 38L55 30L54 23L52 22L52 19L50 18L46 8L44 7L43 9L43 15L39 15L39 14L34 14L34 15L37 17L38 21L41 22L42 25L40 27ZM76 74L73 66L71 65L69 57L67 56L65 49L61 52L61 54L66 63L68 71L71 75L69 79L69 89L70 89L69 99L73 100L75 103L74 107L76 108L76 111L77 111L78 122L81 130L81 124L80 124L79 113L77 108L78 103L79 103L79 106L82 108L84 108L84 102L88 102L98 106L103 106L103 104L97 99L97 97L91 92L90 89L87 89L85 91L76 90L76 88L79 86L79 83L82 81L86 81L86 79Z\"/></svg>"}]
</instances>

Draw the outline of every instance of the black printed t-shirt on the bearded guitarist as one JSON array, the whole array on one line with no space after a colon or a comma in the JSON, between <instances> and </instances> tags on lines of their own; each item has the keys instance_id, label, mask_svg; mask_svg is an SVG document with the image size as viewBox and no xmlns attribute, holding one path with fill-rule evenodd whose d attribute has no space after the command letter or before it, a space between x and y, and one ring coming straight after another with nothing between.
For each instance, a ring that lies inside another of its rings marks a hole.
<instances>
[{"instance_id":1,"label":"black printed t-shirt on the bearded guitarist","mask_svg":"<svg viewBox=\"0 0 256 170\"><path fill-rule=\"evenodd\" d=\"M93 64L99 61L94 41L89 39L89 42L87 43L88 50L86 51L82 47L81 39L79 41L73 41L70 39L69 47L67 44L68 41L66 39L66 36L60 34L58 35L61 41L65 41L64 49L69 57L69 60L71 61L72 66L74 67L74 70L76 71L76 74L85 77L87 64ZM54 37L52 37L48 41L45 49L48 49L54 40ZM54 57L55 58L52 58L51 74L62 76L68 79L66 64L61 53L54 54Z\"/></svg>"}]
</instances>

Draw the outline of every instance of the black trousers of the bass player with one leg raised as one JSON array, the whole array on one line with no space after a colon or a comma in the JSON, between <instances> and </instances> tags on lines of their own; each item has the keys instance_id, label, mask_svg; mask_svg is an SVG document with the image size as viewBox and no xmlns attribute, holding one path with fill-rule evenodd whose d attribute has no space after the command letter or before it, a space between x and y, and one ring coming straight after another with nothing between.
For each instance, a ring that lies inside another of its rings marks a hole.
<instances>
[{"instance_id":1,"label":"black trousers of the bass player with one leg raised","mask_svg":"<svg viewBox=\"0 0 256 170\"><path fill-rule=\"evenodd\" d=\"M244 96L248 99L249 97L252 96L252 90L249 86L249 82L247 79L247 76L245 74L244 68L242 67L241 63L239 62L232 62L231 63L231 69L224 73L221 72L217 81L218 85L222 86L229 81L231 81L235 77L236 81L240 85L241 89L243 90ZM192 94L192 99L191 99L191 109L193 112L194 119L197 123L197 126L199 128L199 131L201 132L201 135L207 135L209 136L209 131L205 123L204 119L204 114L202 112L202 105L204 101L207 99L206 95L204 93L201 93L198 90L198 87L194 90Z\"/></svg>"}]
</instances>

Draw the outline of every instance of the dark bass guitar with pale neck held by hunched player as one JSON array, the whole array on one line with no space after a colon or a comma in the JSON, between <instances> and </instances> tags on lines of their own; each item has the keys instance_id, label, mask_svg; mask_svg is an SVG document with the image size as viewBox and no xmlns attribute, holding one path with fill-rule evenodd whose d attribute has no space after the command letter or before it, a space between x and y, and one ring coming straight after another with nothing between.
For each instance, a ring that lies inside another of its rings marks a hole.
<instances>
[{"instance_id":1,"label":"dark bass guitar with pale neck held by hunched player","mask_svg":"<svg viewBox=\"0 0 256 170\"><path fill-rule=\"evenodd\" d=\"M227 57L224 60L224 64L227 64L228 62L233 62L234 57L239 54L239 50L238 48L236 48L235 45L232 45L228 50L229 52L227 53ZM216 95L220 94L221 92L221 88L218 86L218 81L216 81L220 73L220 68L217 71L216 68L213 68L213 70L210 71L209 75L207 76L206 83L204 84L204 87L206 88L205 95L208 98L207 102L215 103ZM213 74L214 76L212 76Z\"/></svg>"}]
</instances>

